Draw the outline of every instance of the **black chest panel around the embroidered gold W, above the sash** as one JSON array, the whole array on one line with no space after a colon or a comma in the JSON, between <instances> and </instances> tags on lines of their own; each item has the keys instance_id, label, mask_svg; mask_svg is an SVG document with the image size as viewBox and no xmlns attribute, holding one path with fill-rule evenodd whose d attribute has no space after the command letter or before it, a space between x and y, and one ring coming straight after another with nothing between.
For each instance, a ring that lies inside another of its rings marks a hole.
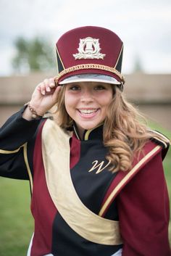
<instances>
[{"instance_id":1,"label":"black chest panel around the embroidered gold W, above the sash","mask_svg":"<svg viewBox=\"0 0 171 256\"><path fill-rule=\"evenodd\" d=\"M104 148L101 141L81 141L80 145L80 160L71 170L72 182L83 204L99 214L106 189L117 173L110 172L108 167L104 168L108 164L105 159L107 149ZM104 170L96 173L98 168L95 168L88 172L94 165L94 161L98 161L97 165L103 162ZM117 210L112 212L111 218L117 220Z\"/></svg>"}]
</instances>

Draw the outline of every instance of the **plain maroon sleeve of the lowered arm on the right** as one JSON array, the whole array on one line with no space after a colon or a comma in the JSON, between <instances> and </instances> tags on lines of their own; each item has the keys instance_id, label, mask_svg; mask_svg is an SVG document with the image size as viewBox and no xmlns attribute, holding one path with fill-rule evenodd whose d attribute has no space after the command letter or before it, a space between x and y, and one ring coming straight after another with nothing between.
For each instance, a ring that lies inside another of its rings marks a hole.
<instances>
[{"instance_id":1,"label":"plain maroon sleeve of the lowered arm on the right","mask_svg":"<svg viewBox=\"0 0 171 256\"><path fill-rule=\"evenodd\" d=\"M122 256L170 256L169 199L161 152L118 195Z\"/></svg>"}]
</instances>

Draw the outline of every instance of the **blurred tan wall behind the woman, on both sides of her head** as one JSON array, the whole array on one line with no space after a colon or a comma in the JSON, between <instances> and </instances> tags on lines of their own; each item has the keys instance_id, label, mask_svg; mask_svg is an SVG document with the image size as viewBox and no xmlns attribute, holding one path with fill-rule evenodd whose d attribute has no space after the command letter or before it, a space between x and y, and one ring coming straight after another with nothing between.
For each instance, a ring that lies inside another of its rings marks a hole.
<instances>
[{"instance_id":1,"label":"blurred tan wall behind the woman, on both sides of her head","mask_svg":"<svg viewBox=\"0 0 171 256\"><path fill-rule=\"evenodd\" d=\"M35 86L53 73L0 77L0 125L30 100ZM152 121L171 131L171 75L125 75L124 94Z\"/></svg>"}]
</instances>

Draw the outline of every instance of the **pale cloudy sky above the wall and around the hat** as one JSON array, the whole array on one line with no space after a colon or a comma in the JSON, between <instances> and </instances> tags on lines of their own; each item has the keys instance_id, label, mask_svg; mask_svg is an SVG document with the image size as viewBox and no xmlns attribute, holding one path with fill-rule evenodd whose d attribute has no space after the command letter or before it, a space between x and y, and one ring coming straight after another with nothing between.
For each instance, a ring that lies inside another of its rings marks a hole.
<instances>
[{"instance_id":1,"label":"pale cloudy sky above the wall and around the hat","mask_svg":"<svg viewBox=\"0 0 171 256\"><path fill-rule=\"evenodd\" d=\"M171 73L170 0L0 0L0 76L12 75L14 41L44 36L54 47L63 33L96 25L124 43L122 73L136 59L145 73Z\"/></svg>"}]
</instances>

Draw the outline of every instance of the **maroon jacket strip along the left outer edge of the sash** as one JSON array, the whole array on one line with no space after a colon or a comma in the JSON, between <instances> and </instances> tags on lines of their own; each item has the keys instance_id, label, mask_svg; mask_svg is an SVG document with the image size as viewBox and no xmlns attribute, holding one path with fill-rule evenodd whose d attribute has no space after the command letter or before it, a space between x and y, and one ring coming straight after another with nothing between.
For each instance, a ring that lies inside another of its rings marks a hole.
<instances>
[{"instance_id":1,"label":"maroon jacket strip along the left outer edge of the sash","mask_svg":"<svg viewBox=\"0 0 171 256\"><path fill-rule=\"evenodd\" d=\"M41 133L43 122L36 137L36 144L33 154L33 197L31 210L35 219L35 233L31 256L46 255L51 252L52 226L57 208L51 200L43 167Z\"/></svg>"}]
</instances>

